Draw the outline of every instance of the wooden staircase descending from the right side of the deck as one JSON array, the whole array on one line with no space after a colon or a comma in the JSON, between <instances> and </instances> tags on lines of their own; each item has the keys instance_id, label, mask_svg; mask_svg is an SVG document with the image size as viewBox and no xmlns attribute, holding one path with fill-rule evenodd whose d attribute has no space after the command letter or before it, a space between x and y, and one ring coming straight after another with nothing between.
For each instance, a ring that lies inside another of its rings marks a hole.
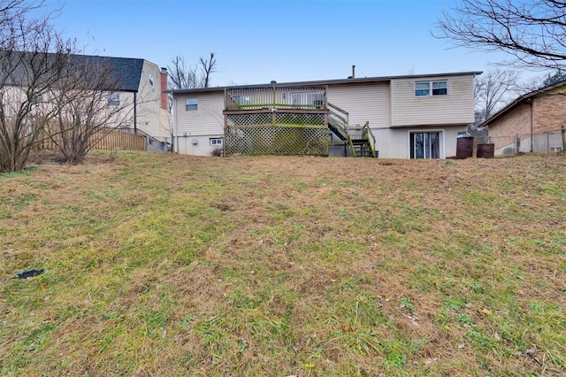
<instances>
[{"instance_id":1,"label":"wooden staircase descending from the right side of the deck","mask_svg":"<svg viewBox=\"0 0 566 377\"><path fill-rule=\"evenodd\" d=\"M330 110L328 128L340 139L333 144L347 145L354 157L376 158L375 138L371 134L370 122L365 122L363 127L350 127L348 112L334 104L327 104Z\"/></svg>"}]
</instances>

